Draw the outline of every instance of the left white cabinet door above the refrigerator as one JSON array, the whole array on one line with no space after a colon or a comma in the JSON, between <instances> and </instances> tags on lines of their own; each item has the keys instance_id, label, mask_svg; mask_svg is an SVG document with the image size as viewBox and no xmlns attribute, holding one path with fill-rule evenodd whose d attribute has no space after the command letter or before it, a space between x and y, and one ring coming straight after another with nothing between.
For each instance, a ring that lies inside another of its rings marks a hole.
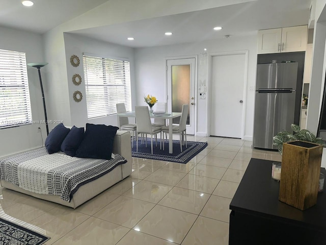
<instances>
[{"instance_id":1,"label":"left white cabinet door above the refrigerator","mask_svg":"<svg viewBox=\"0 0 326 245\"><path fill-rule=\"evenodd\" d=\"M258 31L258 54L280 53L282 28Z\"/></svg>"}]
</instances>

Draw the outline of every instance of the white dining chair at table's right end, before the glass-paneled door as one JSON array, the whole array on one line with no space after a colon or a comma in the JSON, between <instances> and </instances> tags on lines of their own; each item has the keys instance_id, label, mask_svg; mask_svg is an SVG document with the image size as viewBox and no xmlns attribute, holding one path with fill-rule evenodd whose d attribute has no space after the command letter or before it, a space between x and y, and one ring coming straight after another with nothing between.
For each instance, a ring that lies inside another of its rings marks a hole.
<instances>
[{"instance_id":1,"label":"white dining chair at table's right end, before the glass-paneled door","mask_svg":"<svg viewBox=\"0 0 326 245\"><path fill-rule=\"evenodd\" d=\"M181 110L181 117L178 126L172 126L172 133L180 135L180 149L182 152L182 138L184 136L185 140L185 148L187 148L187 134L186 134L186 127L187 127L187 116L188 116L189 105L184 104L182 105ZM162 127L162 134L163 134L163 151L164 151L164 133L169 133L169 127ZM172 139L169 139L172 140Z\"/></svg>"}]
</instances>

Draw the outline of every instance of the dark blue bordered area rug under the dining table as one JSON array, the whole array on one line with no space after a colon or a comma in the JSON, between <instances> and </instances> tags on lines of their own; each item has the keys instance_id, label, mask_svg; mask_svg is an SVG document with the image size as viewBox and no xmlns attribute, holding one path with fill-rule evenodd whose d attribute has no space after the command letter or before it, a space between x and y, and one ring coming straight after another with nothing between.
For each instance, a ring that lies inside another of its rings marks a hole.
<instances>
[{"instance_id":1,"label":"dark blue bordered area rug under the dining table","mask_svg":"<svg viewBox=\"0 0 326 245\"><path fill-rule=\"evenodd\" d=\"M157 146L155 146L155 139L153 139L153 154L151 152L151 140L147 139L147 148L145 142L142 144L138 141L138 152L136 152L136 144L133 142L131 148L131 155L133 157L147 158L161 161L187 163L198 153L204 150L207 146L206 142L187 141L187 148L182 145L182 152L180 150L180 141L173 140L173 154L169 154L169 142L165 142L165 149L159 150L159 139L157 139Z\"/></svg>"}]
</instances>

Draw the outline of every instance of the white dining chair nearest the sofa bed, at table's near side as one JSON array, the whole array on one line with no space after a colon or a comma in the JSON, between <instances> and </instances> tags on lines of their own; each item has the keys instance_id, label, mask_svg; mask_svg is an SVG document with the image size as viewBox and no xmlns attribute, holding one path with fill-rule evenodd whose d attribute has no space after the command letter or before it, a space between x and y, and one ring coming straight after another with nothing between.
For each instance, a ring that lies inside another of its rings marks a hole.
<instances>
[{"instance_id":1,"label":"white dining chair nearest the sofa bed, at table's near side","mask_svg":"<svg viewBox=\"0 0 326 245\"><path fill-rule=\"evenodd\" d=\"M137 132L136 132L136 151L138 152L138 134L147 134L151 135L151 150L153 154L153 135L160 134L160 142L159 142L159 149L161 149L162 145L162 135L161 135L161 127L152 126L151 118L149 116L149 111L147 106L135 106L135 117L136 117L136 125L137 125ZM146 147L147 147L147 137L145 139ZM157 140L156 140L157 146Z\"/></svg>"}]
</instances>

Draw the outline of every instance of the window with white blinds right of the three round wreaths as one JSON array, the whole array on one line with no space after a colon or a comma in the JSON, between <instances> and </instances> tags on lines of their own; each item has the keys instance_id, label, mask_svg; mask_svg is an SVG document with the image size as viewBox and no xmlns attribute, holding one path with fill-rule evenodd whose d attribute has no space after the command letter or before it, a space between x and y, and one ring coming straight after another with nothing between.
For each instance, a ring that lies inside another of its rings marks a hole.
<instances>
[{"instance_id":1,"label":"window with white blinds right of the three round wreaths","mask_svg":"<svg viewBox=\"0 0 326 245\"><path fill-rule=\"evenodd\" d=\"M87 116L117 113L116 104L131 110L129 61L83 55Z\"/></svg>"}]
</instances>

